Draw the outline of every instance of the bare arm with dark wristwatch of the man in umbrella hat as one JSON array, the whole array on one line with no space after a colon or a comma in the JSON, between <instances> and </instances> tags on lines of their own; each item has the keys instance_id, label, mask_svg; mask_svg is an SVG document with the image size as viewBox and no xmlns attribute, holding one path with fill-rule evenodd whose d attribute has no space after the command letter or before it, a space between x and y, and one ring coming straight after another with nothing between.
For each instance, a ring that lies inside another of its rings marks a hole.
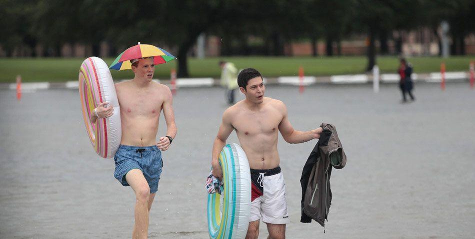
<instances>
[{"instance_id":1,"label":"bare arm with dark wristwatch of the man in umbrella hat","mask_svg":"<svg viewBox=\"0 0 475 239\"><path fill-rule=\"evenodd\" d=\"M173 97L171 96L171 91L168 87L165 88L165 100L162 104L163 116L165 117L166 123L166 135L171 136L172 139L176 136L176 131L178 130L175 125L175 115L173 114ZM160 150L167 150L170 146L170 141L167 137L160 137L160 141L157 143L157 147Z\"/></svg>"}]
</instances>

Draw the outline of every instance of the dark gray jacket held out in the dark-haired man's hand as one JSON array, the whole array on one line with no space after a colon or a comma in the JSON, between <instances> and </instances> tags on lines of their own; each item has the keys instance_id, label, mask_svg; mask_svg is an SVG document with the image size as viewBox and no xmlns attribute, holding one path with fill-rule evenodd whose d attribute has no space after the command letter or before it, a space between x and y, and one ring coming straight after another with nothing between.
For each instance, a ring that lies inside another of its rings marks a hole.
<instances>
[{"instance_id":1,"label":"dark gray jacket held out in the dark-haired man's hand","mask_svg":"<svg viewBox=\"0 0 475 239\"><path fill-rule=\"evenodd\" d=\"M300 222L310 223L313 219L323 227L331 204L331 168L343 168L346 164L346 155L335 127L326 123L320 127L323 132L308 156L300 178L302 186Z\"/></svg>"}]
</instances>

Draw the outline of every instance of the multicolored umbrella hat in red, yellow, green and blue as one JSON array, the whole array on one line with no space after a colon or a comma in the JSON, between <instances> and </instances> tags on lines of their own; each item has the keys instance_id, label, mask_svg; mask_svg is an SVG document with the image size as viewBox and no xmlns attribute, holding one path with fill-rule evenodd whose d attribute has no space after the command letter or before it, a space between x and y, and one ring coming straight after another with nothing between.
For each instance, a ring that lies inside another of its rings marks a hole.
<instances>
[{"instance_id":1,"label":"multicolored umbrella hat in red, yellow, green and blue","mask_svg":"<svg viewBox=\"0 0 475 239\"><path fill-rule=\"evenodd\" d=\"M140 44L131 46L128 49L124 50L120 55L115 58L114 62L110 64L109 69L114 70L127 70L132 68L130 60L139 59L143 57L153 57L153 64L163 64L172 59L176 59L173 55L167 51L147 44Z\"/></svg>"}]
</instances>

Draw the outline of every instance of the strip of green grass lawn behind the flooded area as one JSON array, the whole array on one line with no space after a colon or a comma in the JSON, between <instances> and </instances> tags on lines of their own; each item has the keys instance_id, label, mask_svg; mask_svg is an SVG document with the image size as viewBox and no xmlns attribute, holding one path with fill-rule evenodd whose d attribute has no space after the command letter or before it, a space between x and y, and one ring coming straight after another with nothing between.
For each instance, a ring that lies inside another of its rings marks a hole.
<instances>
[{"instance_id":1,"label":"strip of green grass lawn behind the flooded area","mask_svg":"<svg viewBox=\"0 0 475 239\"><path fill-rule=\"evenodd\" d=\"M64 82L77 80L78 69L83 58L0 58L0 83L14 82L16 75L21 75L23 82ZM107 64L113 58L104 59ZM219 77L219 60L234 62L237 68L253 67L264 76L290 76L298 74L298 67L304 68L305 75L334 75L364 73L366 57L210 57L206 59L188 59L190 77ZM470 60L475 56L460 56L443 59L439 57L411 57L414 72L435 72L440 70L442 61L447 71L468 71ZM395 73L398 58L395 56L380 56L376 63L382 73ZM155 67L154 78L169 79L170 69L176 68L176 60ZM112 77L118 79L132 78L130 70L111 70Z\"/></svg>"}]
</instances>

